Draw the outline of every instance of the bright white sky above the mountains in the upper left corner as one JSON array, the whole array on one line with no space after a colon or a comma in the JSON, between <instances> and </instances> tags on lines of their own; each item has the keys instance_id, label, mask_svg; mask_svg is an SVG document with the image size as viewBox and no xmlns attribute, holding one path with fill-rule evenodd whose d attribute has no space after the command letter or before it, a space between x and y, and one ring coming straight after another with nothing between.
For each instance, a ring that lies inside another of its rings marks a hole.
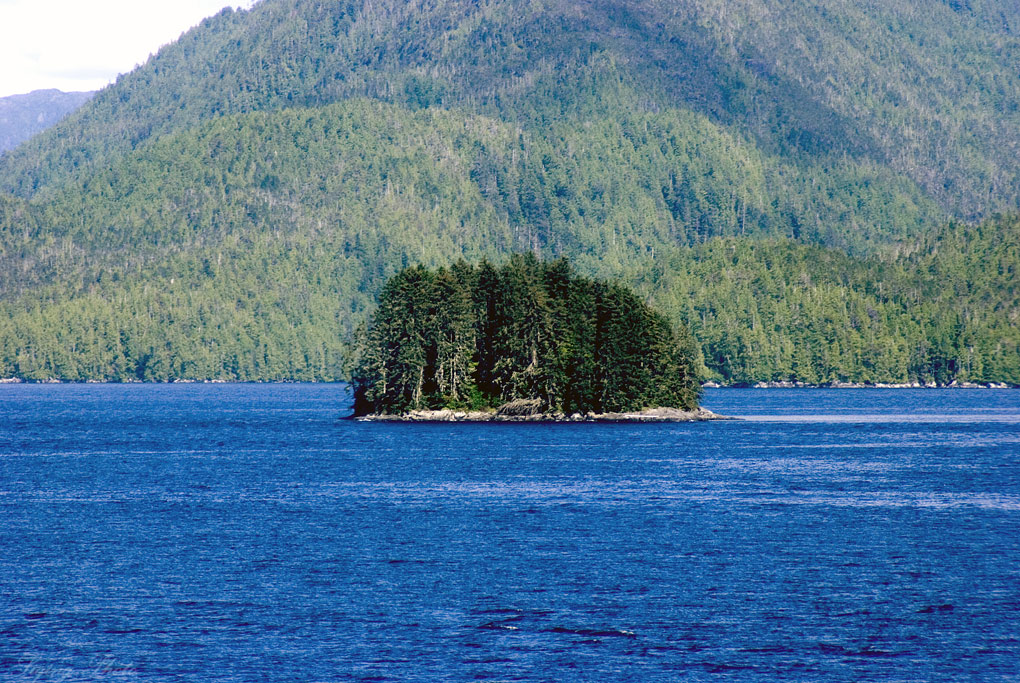
<instances>
[{"instance_id":1,"label":"bright white sky above the mountains in the upper left corner","mask_svg":"<svg viewBox=\"0 0 1020 683\"><path fill-rule=\"evenodd\" d=\"M206 16L252 0L0 0L0 97L99 90Z\"/></svg>"}]
</instances>

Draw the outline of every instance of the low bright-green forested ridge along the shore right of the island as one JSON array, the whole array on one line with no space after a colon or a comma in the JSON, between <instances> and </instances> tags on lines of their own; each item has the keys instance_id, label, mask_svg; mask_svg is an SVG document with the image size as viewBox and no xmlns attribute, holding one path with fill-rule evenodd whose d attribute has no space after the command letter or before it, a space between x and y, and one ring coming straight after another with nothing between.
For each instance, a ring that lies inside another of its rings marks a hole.
<instances>
[{"instance_id":1,"label":"low bright-green forested ridge along the shore right of the island","mask_svg":"<svg viewBox=\"0 0 1020 683\"><path fill-rule=\"evenodd\" d=\"M884 258L717 240L636 275L727 383L1020 384L1020 220L955 224Z\"/></svg>"}]
</instances>

